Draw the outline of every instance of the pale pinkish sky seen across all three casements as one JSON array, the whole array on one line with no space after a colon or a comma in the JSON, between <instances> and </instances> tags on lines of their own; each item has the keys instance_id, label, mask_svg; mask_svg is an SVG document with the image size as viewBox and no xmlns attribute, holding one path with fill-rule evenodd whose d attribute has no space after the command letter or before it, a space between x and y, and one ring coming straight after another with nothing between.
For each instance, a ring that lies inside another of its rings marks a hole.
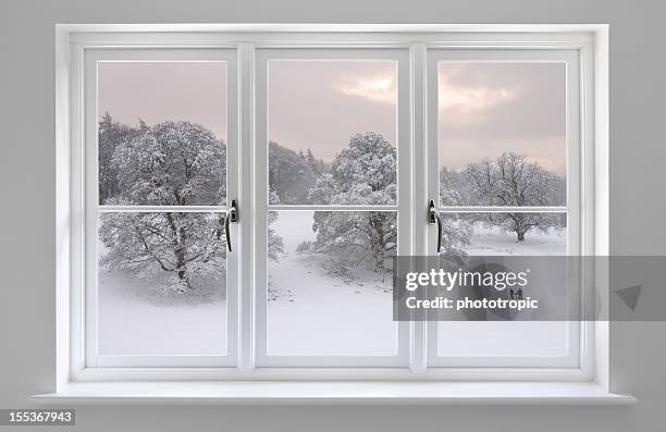
<instances>
[{"instance_id":1,"label":"pale pinkish sky seen across all three casements","mask_svg":"<svg viewBox=\"0 0 666 432\"><path fill-rule=\"evenodd\" d=\"M310 148L332 160L357 133L395 144L394 61L272 60L268 82L269 139ZM564 174L564 63L441 62L440 165L462 169L504 151L525 153ZM124 123L201 123L226 140L225 62L103 62L98 109Z\"/></svg>"}]
</instances>

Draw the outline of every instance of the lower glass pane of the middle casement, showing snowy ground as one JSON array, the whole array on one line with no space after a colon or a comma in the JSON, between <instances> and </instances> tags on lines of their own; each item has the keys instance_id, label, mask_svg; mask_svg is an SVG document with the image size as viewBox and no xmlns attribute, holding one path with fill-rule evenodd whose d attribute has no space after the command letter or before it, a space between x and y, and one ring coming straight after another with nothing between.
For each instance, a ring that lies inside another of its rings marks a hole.
<instances>
[{"instance_id":1,"label":"lower glass pane of the middle casement, showing snowy ground","mask_svg":"<svg viewBox=\"0 0 666 432\"><path fill-rule=\"evenodd\" d=\"M269 212L268 355L397 354L396 212Z\"/></svg>"}]
</instances>

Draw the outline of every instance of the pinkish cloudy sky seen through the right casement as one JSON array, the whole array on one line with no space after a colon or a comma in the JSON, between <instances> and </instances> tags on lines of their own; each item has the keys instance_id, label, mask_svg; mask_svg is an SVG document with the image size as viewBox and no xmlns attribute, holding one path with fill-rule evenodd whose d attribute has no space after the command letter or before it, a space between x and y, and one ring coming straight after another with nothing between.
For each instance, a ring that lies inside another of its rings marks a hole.
<instances>
[{"instance_id":1,"label":"pinkish cloudy sky seen through the right casement","mask_svg":"<svg viewBox=\"0 0 666 432\"><path fill-rule=\"evenodd\" d=\"M440 62L437 78L441 165L514 151L565 174L565 63Z\"/></svg>"}]
</instances>

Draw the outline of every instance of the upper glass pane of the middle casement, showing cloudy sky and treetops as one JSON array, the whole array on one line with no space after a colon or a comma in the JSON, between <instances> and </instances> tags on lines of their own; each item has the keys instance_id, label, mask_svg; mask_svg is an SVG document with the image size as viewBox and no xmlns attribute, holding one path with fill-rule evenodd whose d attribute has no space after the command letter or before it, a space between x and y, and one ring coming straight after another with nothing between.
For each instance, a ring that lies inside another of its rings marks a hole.
<instances>
[{"instance_id":1,"label":"upper glass pane of the middle casement, showing cloudy sky and treetops","mask_svg":"<svg viewBox=\"0 0 666 432\"><path fill-rule=\"evenodd\" d=\"M396 67L269 62L271 203L396 202Z\"/></svg>"}]
</instances>

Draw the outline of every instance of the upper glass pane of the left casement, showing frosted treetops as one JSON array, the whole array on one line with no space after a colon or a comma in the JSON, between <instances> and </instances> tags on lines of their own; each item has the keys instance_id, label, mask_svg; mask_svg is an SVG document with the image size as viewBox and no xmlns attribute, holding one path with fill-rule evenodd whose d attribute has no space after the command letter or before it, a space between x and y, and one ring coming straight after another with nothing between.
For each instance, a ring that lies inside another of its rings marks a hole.
<instances>
[{"instance_id":1,"label":"upper glass pane of the left casement, showing frosted treetops","mask_svg":"<svg viewBox=\"0 0 666 432\"><path fill-rule=\"evenodd\" d=\"M226 62L99 62L100 205L226 198Z\"/></svg>"}]
</instances>

